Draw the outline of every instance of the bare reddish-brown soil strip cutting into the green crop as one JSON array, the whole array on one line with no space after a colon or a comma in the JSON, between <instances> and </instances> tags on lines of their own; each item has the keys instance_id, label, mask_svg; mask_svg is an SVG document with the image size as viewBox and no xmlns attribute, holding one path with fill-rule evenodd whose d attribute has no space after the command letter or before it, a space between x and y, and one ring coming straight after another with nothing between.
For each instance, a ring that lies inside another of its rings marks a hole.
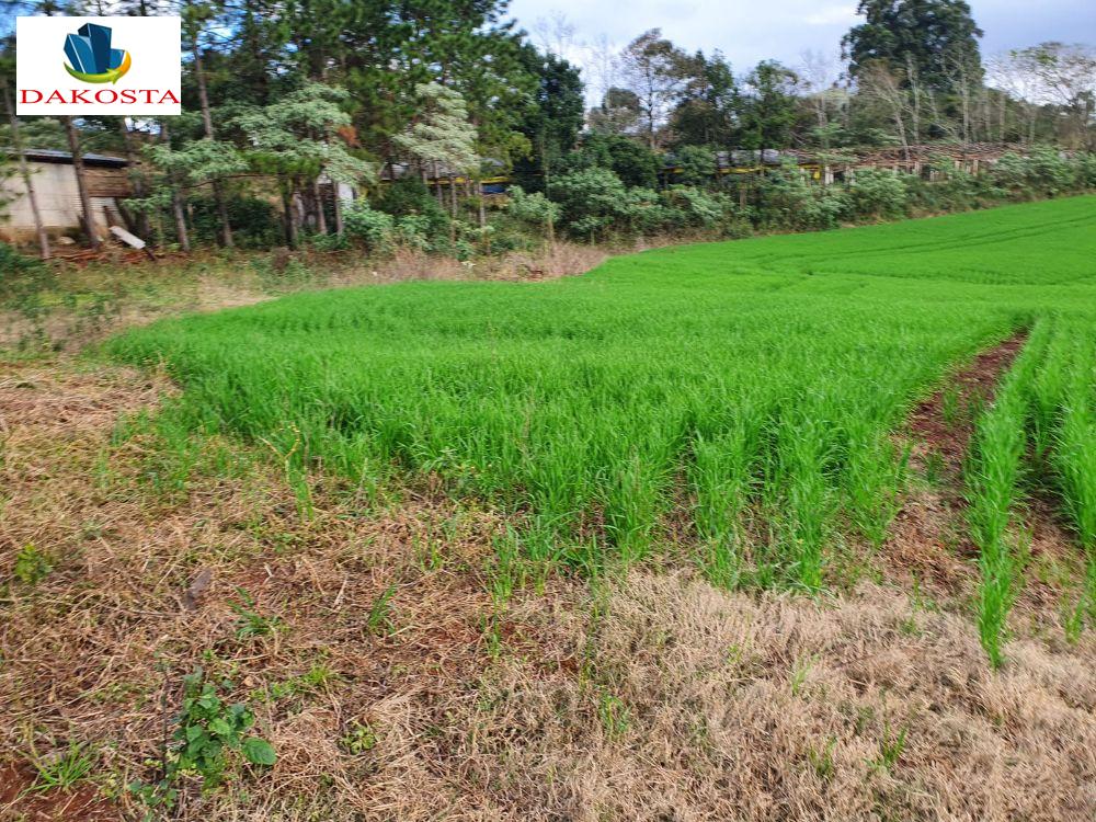
<instances>
[{"instance_id":1,"label":"bare reddish-brown soil strip cutting into the green crop","mask_svg":"<svg viewBox=\"0 0 1096 822\"><path fill-rule=\"evenodd\" d=\"M883 545L888 564L902 576L948 591L969 578L964 558L977 552L963 511L963 463L982 409L1027 342L1021 330L978 354L906 420L913 481Z\"/></svg>"}]
</instances>

